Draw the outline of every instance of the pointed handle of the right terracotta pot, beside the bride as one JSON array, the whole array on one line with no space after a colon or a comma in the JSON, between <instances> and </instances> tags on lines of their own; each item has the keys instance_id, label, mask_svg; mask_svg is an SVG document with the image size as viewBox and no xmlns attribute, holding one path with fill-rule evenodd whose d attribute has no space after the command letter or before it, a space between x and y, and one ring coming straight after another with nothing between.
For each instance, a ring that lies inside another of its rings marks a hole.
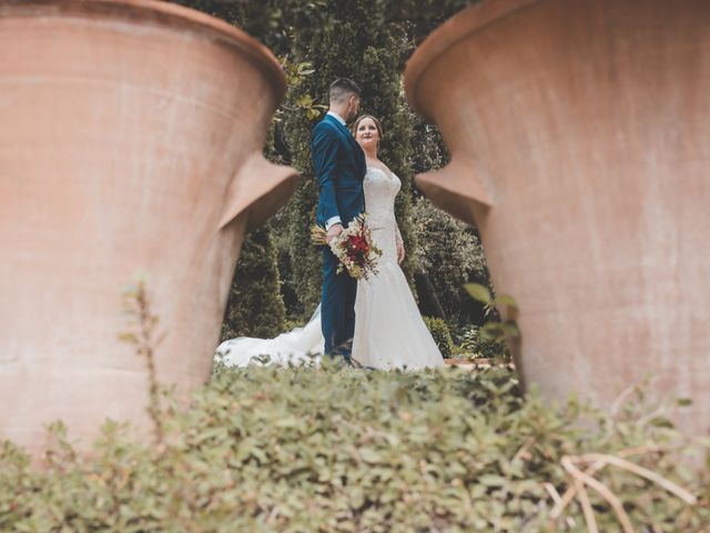
<instances>
[{"instance_id":1,"label":"pointed handle of the right terracotta pot, beside the bride","mask_svg":"<svg viewBox=\"0 0 710 533\"><path fill-rule=\"evenodd\" d=\"M469 161L453 160L443 169L417 174L415 182L434 204L468 223L475 223L475 212L493 208L493 200Z\"/></svg>"}]
</instances>

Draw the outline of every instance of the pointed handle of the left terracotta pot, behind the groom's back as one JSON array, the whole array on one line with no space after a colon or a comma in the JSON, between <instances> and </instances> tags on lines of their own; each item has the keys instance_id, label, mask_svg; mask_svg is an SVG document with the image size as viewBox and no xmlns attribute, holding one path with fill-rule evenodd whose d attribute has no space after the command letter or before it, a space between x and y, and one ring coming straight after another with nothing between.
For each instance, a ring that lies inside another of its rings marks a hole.
<instances>
[{"instance_id":1,"label":"pointed handle of the left terracotta pot, behind the groom's back","mask_svg":"<svg viewBox=\"0 0 710 533\"><path fill-rule=\"evenodd\" d=\"M298 172L291 167L271 163L253 153L232 179L220 230L246 214L246 231L263 224L281 209L296 190Z\"/></svg>"}]
</instances>

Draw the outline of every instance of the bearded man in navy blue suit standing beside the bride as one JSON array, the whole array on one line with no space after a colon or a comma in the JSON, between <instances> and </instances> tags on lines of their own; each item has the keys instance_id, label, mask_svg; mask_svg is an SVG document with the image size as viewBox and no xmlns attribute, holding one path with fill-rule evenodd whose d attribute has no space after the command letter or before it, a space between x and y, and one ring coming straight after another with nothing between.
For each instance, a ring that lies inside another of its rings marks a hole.
<instances>
[{"instance_id":1,"label":"bearded man in navy blue suit standing beside the bride","mask_svg":"<svg viewBox=\"0 0 710 533\"><path fill-rule=\"evenodd\" d=\"M357 115L359 87L339 78L331 83L328 100L329 110L313 130L311 149L320 185L316 222L325 227L331 242L343 232L343 225L365 211L363 179L367 168L363 149L345 125ZM352 364L357 280L347 272L337 274L337 258L324 247L321 323L325 353Z\"/></svg>"}]
</instances>

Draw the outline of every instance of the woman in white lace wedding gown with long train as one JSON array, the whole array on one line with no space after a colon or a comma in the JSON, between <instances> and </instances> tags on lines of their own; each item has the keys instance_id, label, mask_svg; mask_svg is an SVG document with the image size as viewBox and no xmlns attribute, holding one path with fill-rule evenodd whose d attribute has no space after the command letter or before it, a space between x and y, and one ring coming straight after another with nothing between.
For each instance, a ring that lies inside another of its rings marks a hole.
<instances>
[{"instance_id":1,"label":"woman in white lace wedding gown with long train","mask_svg":"<svg viewBox=\"0 0 710 533\"><path fill-rule=\"evenodd\" d=\"M374 117L362 115L353 125L353 133L367 160L363 183L367 225L383 254L377 261L377 274L357 282L352 359L363 366L382 370L440 366L444 364L442 353L422 320L399 268L405 250L395 220L395 198L402 182L377 158L382 124ZM317 363L323 346L318 305L304 328L275 339L224 341L216 350L215 360L227 366L246 366L250 362L301 364L313 359Z\"/></svg>"}]
</instances>

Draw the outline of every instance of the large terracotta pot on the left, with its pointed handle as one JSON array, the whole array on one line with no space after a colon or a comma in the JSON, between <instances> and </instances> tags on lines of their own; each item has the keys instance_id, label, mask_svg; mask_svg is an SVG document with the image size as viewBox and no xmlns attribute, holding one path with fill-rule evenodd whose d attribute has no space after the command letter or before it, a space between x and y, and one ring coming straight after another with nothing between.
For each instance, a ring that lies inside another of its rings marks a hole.
<instances>
[{"instance_id":1,"label":"large terracotta pot on the left, with its pointed handle","mask_svg":"<svg viewBox=\"0 0 710 533\"><path fill-rule=\"evenodd\" d=\"M244 232L296 184L262 158L284 91L264 47L190 9L0 0L0 438L146 425L145 361L118 340L136 269L158 379L207 379Z\"/></svg>"}]
</instances>

